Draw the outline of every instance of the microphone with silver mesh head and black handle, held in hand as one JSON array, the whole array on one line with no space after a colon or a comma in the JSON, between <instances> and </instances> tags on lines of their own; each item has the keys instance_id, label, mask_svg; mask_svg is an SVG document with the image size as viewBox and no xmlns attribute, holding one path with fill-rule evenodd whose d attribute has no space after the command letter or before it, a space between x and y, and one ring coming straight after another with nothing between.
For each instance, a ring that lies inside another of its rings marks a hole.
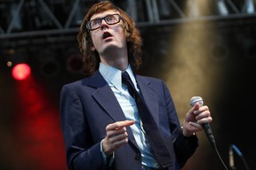
<instances>
[{"instance_id":1,"label":"microphone with silver mesh head and black handle, held in hand","mask_svg":"<svg viewBox=\"0 0 256 170\"><path fill-rule=\"evenodd\" d=\"M204 101L203 101L202 97L192 97L190 99L191 107L193 107L197 102L199 102L200 107L204 105ZM210 127L210 124L209 123L204 123L202 126L204 128L205 135L207 136L208 140L212 144L212 147L214 149L217 149L216 142L215 142L214 136L212 134L212 128Z\"/></svg>"}]
</instances>

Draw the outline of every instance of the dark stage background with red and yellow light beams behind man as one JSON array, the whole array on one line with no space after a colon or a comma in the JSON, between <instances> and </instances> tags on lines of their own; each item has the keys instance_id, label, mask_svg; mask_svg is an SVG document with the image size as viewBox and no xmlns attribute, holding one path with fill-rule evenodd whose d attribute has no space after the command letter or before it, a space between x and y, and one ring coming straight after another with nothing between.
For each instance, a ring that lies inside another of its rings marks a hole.
<instances>
[{"instance_id":1,"label":"dark stage background with red and yellow light beams behind man","mask_svg":"<svg viewBox=\"0 0 256 170\"><path fill-rule=\"evenodd\" d=\"M60 89L84 77L76 42L78 14L84 15L95 2L0 1L0 169L67 169ZM245 1L230 1L235 9L224 1L228 15L221 15L212 2L192 17L185 10L187 1L157 1L152 8L146 1L137 1L131 4L136 14L129 8L132 1L113 2L130 12L140 28L143 65L139 73L166 81L180 123L190 98L203 97L211 109L212 131L226 166L234 144L243 153L241 157L234 151L235 169L256 169L255 12L243 11ZM76 3L81 11L72 10ZM16 19L11 26L13 4L14 12L20 4L20 22ZM7 61L13 65L6 66ZM24 81L12 78L12 68L20 62L31 67L31 76ZM225 169L204 133L198 138L200 147L183 169Z\"/></svg>"}]
</instances>

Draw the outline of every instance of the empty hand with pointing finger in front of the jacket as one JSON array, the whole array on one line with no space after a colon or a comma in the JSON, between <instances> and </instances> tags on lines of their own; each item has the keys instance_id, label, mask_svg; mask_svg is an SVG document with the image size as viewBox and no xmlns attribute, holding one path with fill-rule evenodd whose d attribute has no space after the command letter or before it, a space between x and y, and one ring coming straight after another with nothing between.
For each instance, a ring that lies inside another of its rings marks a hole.
<instances>
[{"instance_id":1,"label":"empty hand with pointing finger in front of the jacket","mask_svg":"<svg viewBox=\"0 0 256 170\"><path fill-rule=\"evenodd\" d=\"M103 151L110 156L113 151L128 143L126 127L133 125L135 120L116 121L106 127L106 137L102 140Z\"/></svg>"}]
</instances>

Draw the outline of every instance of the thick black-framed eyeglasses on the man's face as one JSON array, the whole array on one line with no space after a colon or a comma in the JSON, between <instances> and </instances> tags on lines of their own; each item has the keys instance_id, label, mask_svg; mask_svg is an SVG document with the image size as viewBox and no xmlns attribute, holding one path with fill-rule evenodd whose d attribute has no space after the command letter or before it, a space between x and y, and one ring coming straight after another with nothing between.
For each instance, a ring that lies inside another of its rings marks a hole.
<instances>
[{"instance_id":1,"label":"thick black-framed eyeglasses on the man's face","mask_svg":"<svg viewBox=\"0 0 256 170\"><path fill-rule=\"evenodd\" d=\"M102 17L100 19L92 19L86 23L86 28L89 31L98 29L101 26L103 19L108 25L114 25L120 22L120 19L123 19L123 18L119 14L111 14L111 15L107 15L106 17Z\"/></svg>"}]
</instances>

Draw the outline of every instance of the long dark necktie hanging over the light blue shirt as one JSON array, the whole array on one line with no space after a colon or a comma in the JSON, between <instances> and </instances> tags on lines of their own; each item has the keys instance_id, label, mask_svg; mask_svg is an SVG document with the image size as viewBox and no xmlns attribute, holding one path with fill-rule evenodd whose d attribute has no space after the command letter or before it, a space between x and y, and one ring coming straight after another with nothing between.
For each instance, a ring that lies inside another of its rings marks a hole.
<instances>
[{"instance_id":1,"label":"long dark necktie hanging over the light blue shirt","mask_svg":"<svg viewBox=\"0 0 256 170\"><path fill-rule=\"evenodd\" d=\"M170 166L172 164L172 158L164 144L158 128L156 127L156 122L148 111L148 107L144 103L143 98L135 89L127 72L122 73L122 82L127 86L130 95L135 99L138 111L140 112L140 119L142 121L143 128L148 136L148 141L156 156L156 160L162 167Z\"/></svg>"}]
</instances>

